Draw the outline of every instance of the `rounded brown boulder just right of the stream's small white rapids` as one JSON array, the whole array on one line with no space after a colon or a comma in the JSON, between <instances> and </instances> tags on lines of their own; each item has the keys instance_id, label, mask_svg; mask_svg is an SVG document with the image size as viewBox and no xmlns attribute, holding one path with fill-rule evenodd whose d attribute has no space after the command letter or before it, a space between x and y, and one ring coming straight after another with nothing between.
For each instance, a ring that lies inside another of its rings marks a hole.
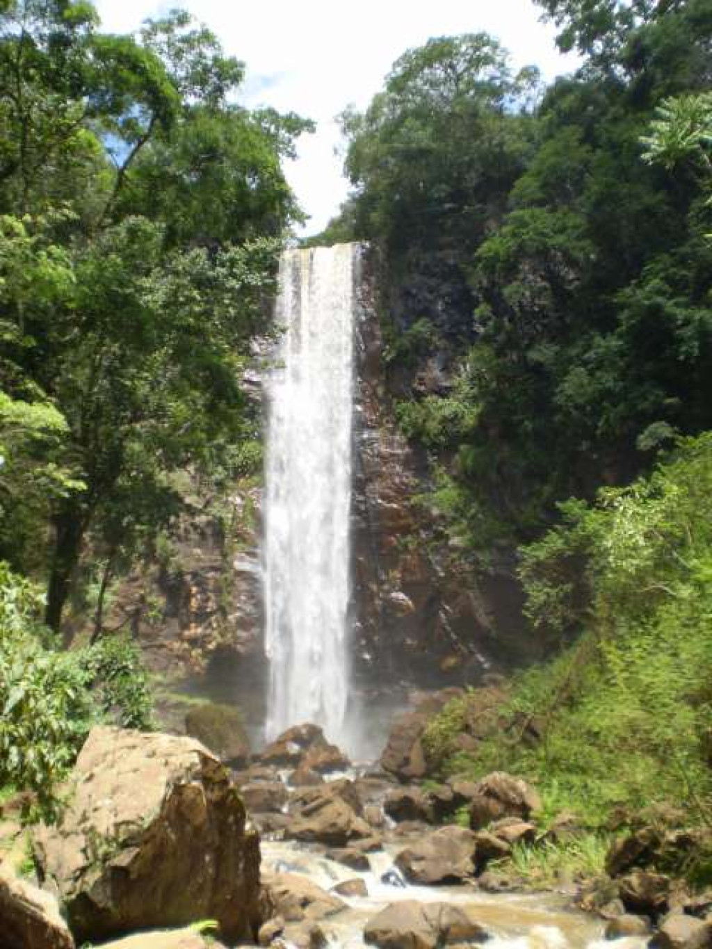
<instances>
[{"instance_id":1,"label":"rounded brown boulder just right of the stream's small white rapids","mask_svg":"<svg viewBox=\"0 0 712 949\"><path fill-rule=\"evenodd\" d=\"M456 825L433 830L402 850L396 865L415 884L461 883L475 875L477 835Z\"/></svg>"}]
</instances>

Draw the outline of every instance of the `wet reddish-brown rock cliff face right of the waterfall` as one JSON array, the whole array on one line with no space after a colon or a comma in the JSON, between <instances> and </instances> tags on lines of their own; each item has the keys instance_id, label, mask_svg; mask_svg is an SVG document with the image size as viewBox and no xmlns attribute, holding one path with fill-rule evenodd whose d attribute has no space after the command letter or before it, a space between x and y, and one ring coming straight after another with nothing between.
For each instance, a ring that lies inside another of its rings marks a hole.
<instances>
[{"instance_id":1,"label":"wet reddish-brown rock cliff face right of the waterfall","mask_svg":"<svg viewBox=\"0 0 712 949\"><path fill-rule=\"evenodd\" d=\"M428 460L393 419L372 282L362 284L353 498L355 667L388 682L477 682L528 658L506 551L484 573L439 530ZM418 384L447 385L438 353Z\"/></svg>"}]
</instances>

